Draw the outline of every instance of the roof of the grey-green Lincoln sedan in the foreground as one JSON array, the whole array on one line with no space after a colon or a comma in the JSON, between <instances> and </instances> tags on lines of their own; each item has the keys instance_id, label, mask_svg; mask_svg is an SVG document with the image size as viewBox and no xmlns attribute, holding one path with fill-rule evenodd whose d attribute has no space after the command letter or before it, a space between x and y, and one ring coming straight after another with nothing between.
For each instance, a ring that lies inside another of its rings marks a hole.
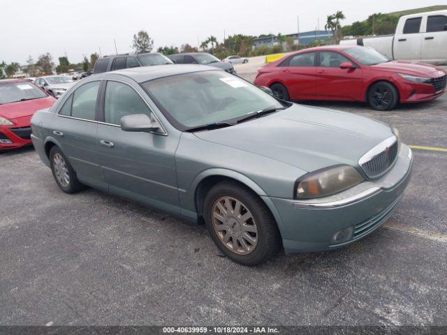
<instances>
[{"instance_id":1,"label":"roof of the grey-green Lincoln sedan in the foreground","mask_svg":"<svg viewBox=\"0 0 447 335\"><path fill-rule=\"evenodd\" d=\"M205 66L198 64L163 64L154 66L140 66L138 68L124 68L111 72L100 73L103 77L110 74L125 75L135 80L135 82L147 82L162 77L170 77L171 75L182 75L185 73L202 72L202 71L222 71L220 68L213 66Z\"/></svg>"}]
</instances>

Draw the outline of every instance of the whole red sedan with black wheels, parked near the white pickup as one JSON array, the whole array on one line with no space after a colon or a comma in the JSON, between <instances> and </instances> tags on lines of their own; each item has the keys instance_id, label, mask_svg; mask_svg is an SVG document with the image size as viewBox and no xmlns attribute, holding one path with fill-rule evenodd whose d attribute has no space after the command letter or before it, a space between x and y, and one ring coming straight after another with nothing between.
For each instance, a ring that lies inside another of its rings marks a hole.
<instances>
[{"instance_id":1,"label":"whole red sedan with black wheels, parked near the white pickup","mask_svg":"<svg viewBox=\"0 0 447 335\"><path fill-rule=\"evenodd\" d=\"M444 94L447 75L428 64L390 61L367 47L314 47L258 70L254 84L284 100L366 101L375 110Z\"/></svg>"}]
</instances>

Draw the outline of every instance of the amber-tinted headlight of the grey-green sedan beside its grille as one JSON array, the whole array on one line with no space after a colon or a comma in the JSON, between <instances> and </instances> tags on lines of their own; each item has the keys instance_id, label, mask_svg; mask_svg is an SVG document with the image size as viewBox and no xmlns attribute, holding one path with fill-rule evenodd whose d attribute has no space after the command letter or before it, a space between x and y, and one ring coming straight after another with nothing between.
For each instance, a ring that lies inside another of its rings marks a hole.
<instances>
[{"instance_id":1,"label":"amber-tinted headlight of the grey-green sedan beside its grille","mask_svg":"<svg viewBox=\"0 0 447 335\"><path fill-rule=\"evenodd\" d=\"M327 197L356 186L364 180L350 165L333 166L305 174L298 179L295 183L295 199Z\"/></svg>"}]
</instances>

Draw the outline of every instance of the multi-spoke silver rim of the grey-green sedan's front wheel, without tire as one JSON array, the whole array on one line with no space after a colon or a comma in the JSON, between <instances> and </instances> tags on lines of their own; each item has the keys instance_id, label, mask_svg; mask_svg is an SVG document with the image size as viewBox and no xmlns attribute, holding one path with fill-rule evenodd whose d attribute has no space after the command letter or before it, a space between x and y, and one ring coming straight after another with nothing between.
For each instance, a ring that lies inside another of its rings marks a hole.
<instances>
[{"instance_id":1,"label":"multi-spoke silver rim of the grey-green sedan's front wheel, without tire","mask_svg":"<svg viewBox=\"0 0 447 335\"><path fill-rule=\"evenodd\" d=\"M212 226L217 237L233 253L248 255L258 243L258 227L240 200L221 197L212 206Z\"/></svg>"}]
</instances>

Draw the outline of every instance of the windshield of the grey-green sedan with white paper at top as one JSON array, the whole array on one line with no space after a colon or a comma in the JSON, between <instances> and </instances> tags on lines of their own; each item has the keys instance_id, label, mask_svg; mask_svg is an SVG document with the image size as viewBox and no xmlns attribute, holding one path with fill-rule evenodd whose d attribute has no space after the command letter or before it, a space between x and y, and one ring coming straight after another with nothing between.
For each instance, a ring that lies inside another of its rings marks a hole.
<instances>
[{"instance_id":1,"label":"windshield of the grey-green sedan with white paper at top","mask_svg":"<svg viewBox=\"0 0 447 335\"><path fill-rule=\"evenodd\" d=\"M142 84L166 118L181 131L247 114L284 108L258 87L221 70L173 75Z\"/></svg>"}]
</instances>

